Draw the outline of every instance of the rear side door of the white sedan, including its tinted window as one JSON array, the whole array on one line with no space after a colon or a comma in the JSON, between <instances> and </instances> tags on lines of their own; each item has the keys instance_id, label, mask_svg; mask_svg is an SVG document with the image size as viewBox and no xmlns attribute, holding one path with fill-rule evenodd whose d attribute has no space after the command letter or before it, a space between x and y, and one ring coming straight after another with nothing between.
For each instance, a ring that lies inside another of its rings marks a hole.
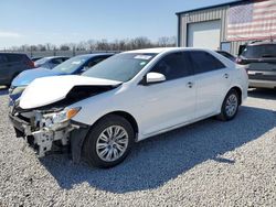
<instances>
[{"instance_id":1,"label":"rear side door of the white sedan, including its tinted window","mask_svg":"<svg viewBox=\"0 0 276 207\"><path fill-rule=\"evenodd\" d=\"M197 88L195 118L215 113L231 86L230 68L204 51L191 52Z\"/></svg>"}]
</instances>

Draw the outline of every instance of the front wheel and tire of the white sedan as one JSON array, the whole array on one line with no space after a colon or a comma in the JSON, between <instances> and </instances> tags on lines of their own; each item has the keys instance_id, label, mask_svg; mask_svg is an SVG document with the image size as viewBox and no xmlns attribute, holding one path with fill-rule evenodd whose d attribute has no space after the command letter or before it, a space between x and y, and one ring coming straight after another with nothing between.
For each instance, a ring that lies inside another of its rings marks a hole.
<instances>
[{"instance_id":1,"label":"front wheel and tire of the white sedan","mask_svg":"<svg viewBox=\"0 0 276 207\"><path fill-rule=\"evenodd\" d=\"M89 130L83 146L84 156L92 166L113 167L127 157L134 140L131 124L120 116L109 115Z\"/></svg>"}]
</instances>

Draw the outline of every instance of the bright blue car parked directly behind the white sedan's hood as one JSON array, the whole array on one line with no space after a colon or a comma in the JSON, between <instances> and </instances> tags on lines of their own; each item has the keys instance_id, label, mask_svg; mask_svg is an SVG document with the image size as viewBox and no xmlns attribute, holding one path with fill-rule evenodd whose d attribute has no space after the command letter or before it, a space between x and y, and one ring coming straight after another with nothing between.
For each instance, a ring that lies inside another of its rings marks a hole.
<instances>
[{"instance_id":1,"label":"bright blue car parked directly behind the white sedan's hood","mask_svg":"<svg viewBox=\"0 0 276 207\"><path fill-rule=\"evenodd\" d=\"M33 81L35 78L47 77L47 76L61 76L61 75L79 75L89 67L97 63L110 57L113 53L95 53L87 55L78 55L72 57L64 63L60 64L53 69L46 69L44 67L35 68L21 73L17 76L10 87L10 105L18 99L25 87ZM49 83L51 85L51 83Z\"/></svg>"}]
</instances>

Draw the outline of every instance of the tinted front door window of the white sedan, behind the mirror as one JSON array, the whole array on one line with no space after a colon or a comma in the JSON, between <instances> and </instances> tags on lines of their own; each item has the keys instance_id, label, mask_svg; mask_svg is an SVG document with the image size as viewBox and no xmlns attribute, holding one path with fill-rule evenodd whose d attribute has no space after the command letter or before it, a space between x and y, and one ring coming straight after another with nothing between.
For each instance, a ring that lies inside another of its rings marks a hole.
<instances>
[{"instance_id":1,"label":"tinted front door window of the white sedan, behind the mirror","mask_svg":"<svg viewBox=\"0 0 276 207\"><path fill-rule=\"evenodd\" d=\"M187 52L169 54L159 61L151 72L163 74L167 80L187 77L192 74L189 54Z\"/></svg>"}]
</instances>

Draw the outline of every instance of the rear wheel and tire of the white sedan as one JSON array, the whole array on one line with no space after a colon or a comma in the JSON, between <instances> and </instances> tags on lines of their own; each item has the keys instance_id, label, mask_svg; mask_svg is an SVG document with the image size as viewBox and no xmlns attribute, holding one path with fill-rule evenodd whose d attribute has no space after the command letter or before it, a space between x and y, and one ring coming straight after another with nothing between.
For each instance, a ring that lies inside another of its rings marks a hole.
<instances>
[{"instance_id":1,"label":"rear wheel and tire of the white sedan","mask_svg":"<svg viewBox=\"0 0 276 207\"><path fill-rule=\"evenodd\" d=\"M231 89L226 95L221 113L217 116L217 119L222 121L230 121L236 117L240 107L240 97L235 89Z\"/></svg>"}]
</instances>

